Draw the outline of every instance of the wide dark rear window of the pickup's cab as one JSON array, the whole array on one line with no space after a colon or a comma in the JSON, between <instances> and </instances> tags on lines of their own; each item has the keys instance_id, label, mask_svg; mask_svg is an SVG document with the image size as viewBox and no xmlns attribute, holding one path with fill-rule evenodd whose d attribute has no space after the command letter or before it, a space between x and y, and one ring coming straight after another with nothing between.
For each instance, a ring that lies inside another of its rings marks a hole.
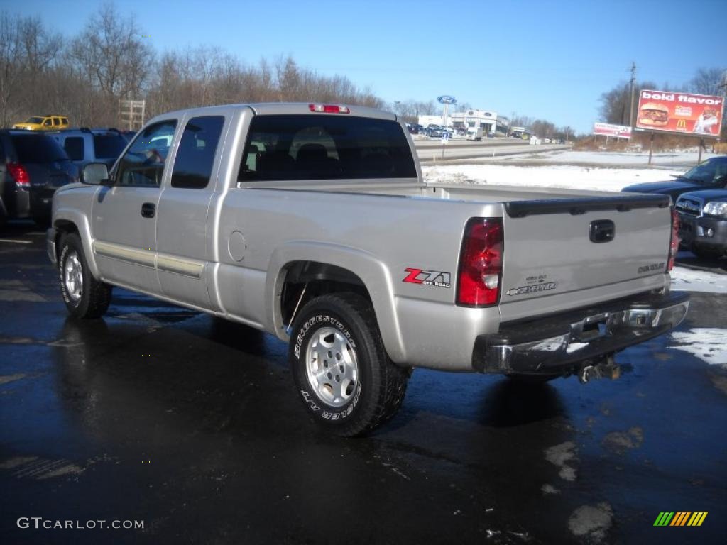
<instances>
[{"instance_id":1,"label":"wide dark rear window of the pickup's cab","mask_svg":"<svg viewBox=\"0 0 727 545\"><path fill-rule=\"evenodd\" d=\"M252 118L238 181L416 177L409 142L396 121L260 115Z\"/></svg>"}]
</instances>

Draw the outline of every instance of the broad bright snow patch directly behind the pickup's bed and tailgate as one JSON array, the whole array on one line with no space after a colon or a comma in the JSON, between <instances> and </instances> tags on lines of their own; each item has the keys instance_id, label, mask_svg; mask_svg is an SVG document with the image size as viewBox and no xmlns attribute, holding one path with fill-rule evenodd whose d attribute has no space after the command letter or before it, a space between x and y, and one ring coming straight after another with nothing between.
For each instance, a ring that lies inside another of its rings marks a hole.
<instances>
[{"instance_id":1,"label":"broad bright snow patch directly behind the pickup's bed and tailgate","mask_svg":"<svg viewBox=\"0 0 727 545\"><path fill-rule=\"evenodd\" d=\"M627 185L671 179L683 170L609 169L585 166L458 165L423 166L428 183L519 185L620 191Z\"/></svg>"}]
</instances>

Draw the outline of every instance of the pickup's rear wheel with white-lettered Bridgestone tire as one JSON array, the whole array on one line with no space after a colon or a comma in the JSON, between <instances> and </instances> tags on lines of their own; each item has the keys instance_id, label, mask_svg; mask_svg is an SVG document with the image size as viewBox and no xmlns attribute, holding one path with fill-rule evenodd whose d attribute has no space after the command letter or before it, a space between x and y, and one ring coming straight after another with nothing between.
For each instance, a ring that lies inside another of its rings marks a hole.
<instances>
[{"instance_id":1,"label":"pickup's rear wheel with white-lettered Bridgestone tire","mask_svg":"<svg viewBox=\"0 0 727 545\"><path fill-rule=\"evenodd\" d=\"M322 366L318 355L323 351L315 350L321 346L325 349ZM293 324L288 359L306 410L336 435L371 432L394 416L406 395L407 370L389 359L374 309L357 294L324 295L305 304ZM325 381L327 374L330 383L314 386L316 379L309 379L309 368L311 373L313 368L320 369L319 379ZM340 396L334 394L336 388Z\"/></svg>"}]
</instances>

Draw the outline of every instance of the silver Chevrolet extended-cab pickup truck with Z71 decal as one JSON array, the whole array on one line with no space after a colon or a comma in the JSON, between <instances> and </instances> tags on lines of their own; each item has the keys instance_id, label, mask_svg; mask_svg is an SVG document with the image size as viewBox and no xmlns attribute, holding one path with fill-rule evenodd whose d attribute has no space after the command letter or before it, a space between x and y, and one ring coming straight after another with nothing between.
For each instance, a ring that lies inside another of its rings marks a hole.
<instances>
[{"instance_id":1,"label":"silver Chevrolet extended-cab pickup truck with Z71 decal","mask_svg":"<svg viewBox=\"0 0 727 545\"><path fill-rule=\"evenodd\" d=\"M414 367L612 376L687 312L667 196L427 184L379 110L167 113L83 180L47 237L71 315L121 286L268 331L340 435L390 419Z\"/></svg>"}]
</instances>

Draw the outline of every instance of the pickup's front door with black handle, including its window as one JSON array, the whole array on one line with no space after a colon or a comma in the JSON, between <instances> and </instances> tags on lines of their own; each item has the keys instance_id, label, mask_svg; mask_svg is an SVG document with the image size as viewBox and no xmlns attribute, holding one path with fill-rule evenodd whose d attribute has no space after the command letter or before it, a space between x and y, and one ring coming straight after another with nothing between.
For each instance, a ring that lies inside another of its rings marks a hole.
<instances>
[{"instance_id":1,"label":"pickup's front door with black handle, including its window","mask_svg":"<svg viewBox=\"0 0 727 545\"><path fill-rule=\"evenodd\" d=\"M156 272L156 217L166 157L176 119L137 134L93 203L94 253L103 278L153 294L161 292ZM166 171L169 169L167 168Z\"/></svg>"}]
</instances>

